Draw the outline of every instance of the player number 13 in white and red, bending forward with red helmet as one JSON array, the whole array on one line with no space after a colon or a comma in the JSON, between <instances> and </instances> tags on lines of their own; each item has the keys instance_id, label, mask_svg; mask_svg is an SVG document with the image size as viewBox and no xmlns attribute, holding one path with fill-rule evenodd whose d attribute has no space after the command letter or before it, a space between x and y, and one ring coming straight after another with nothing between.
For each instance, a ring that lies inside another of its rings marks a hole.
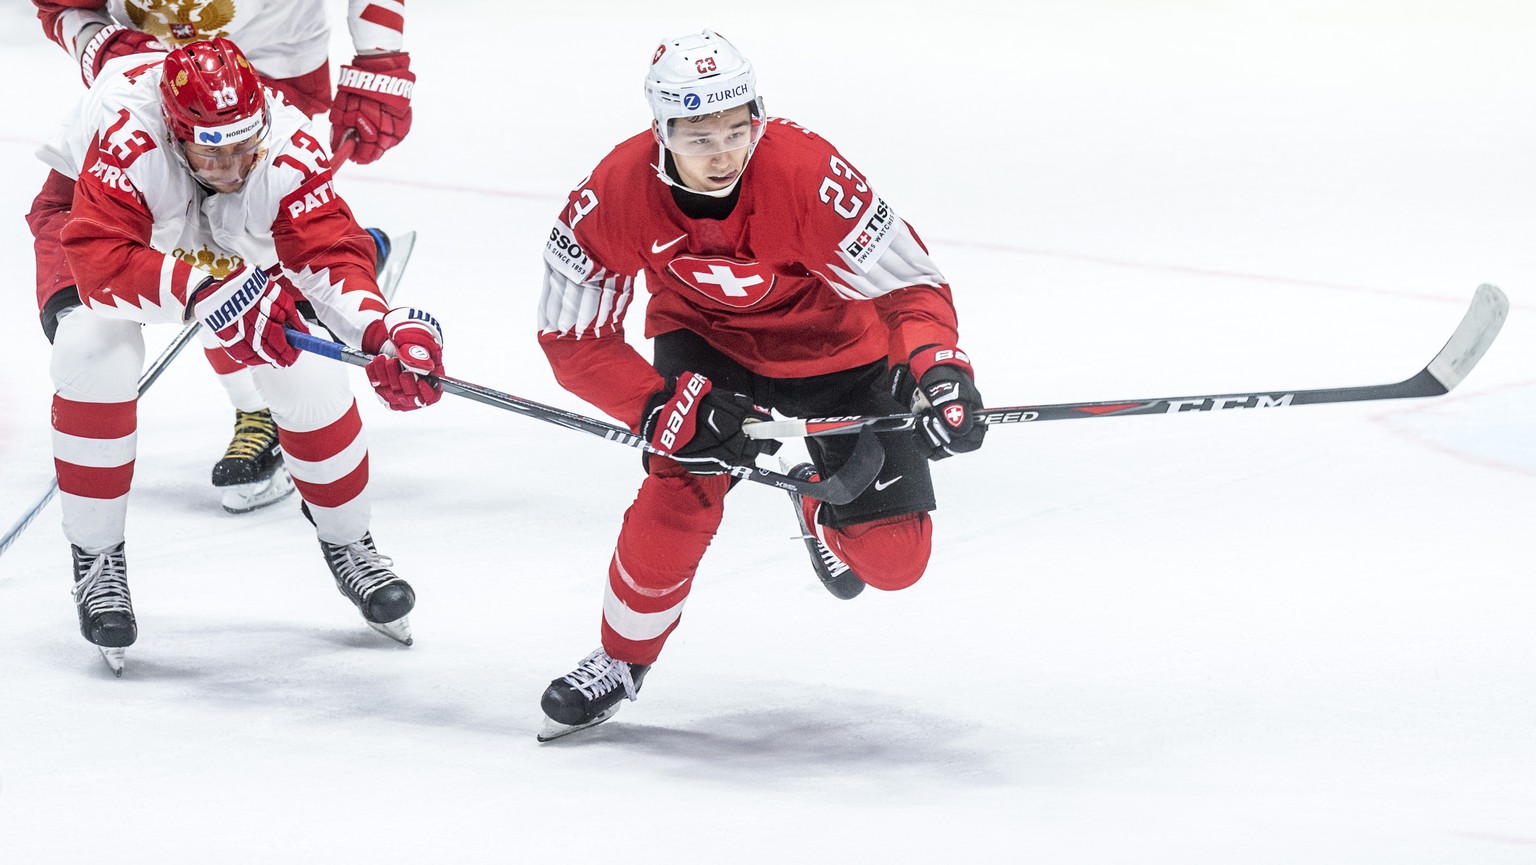
<instances>
[{"instance_id":1,"label":"player number 13 in white and red, bending forward with red helmet","mask_svg":"<svg viewBox=\"0 0 1536 865\"><path fill-rule=\"evenodd\" d=\"M379 353L369 379L401 410L439 398L424 376L442 372L442 335L430 315L379 295L375 241L336 195L309 118L215 38L109 61L38 155L54 169L48 187L72 201L40 237L60 232L78 284L80 303L58 309L49 369L84 638L121 670L138 633L124 522L143 326L200 321L269 399L336 588L369 625L409 642L415 593L369 532L369 455L346 376L283 329L306 329L295 301L307 301L338 338ZM189 263L175 249L214 255Z\"/></svg>"}]
</instances>

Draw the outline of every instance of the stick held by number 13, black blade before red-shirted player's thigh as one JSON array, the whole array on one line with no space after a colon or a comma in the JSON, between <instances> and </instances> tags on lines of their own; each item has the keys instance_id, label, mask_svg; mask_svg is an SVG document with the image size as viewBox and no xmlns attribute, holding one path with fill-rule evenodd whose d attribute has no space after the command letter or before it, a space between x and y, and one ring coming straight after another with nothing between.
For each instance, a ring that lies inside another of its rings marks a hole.
<instances>
[{"instance_id":1,"label":"stick held by number 13, black blade before red-shirted player's thigh","mask_svg":"<svg viewBox=\"0 0 1536 865\"><path fill-rule=\"evenodd\" d=\"M352 366L367 366L372 355L359 352L343 346L341 343L332 343L329 340L321 340L313 333L301 333L298 330L287 332L289 343L293 347L313 352L316 355L324 355L327 358L343 361ZM608 441L616 441L619 444L644 450L647 453L656 453L667 456L667 453L651 447L645 436L631 433L624 427L616 427L613 424L599 421L596 418L588 418L585 415L578 415L574 412L567 412L564 409L556 409L553 406L545 406L542 403L535 403L531 399L524 399L521 396L513 396L511 393L502 393L499 390L492 390L490 387L482 387L468 381L461 381L449 376L436 376L433 379L442 387L442 390L453 393L456 396L464 396L465 399L473 399L476 403L484 403L485 406L493 406L496 409L505 409L508 412L516 412L527 418L536 421L544 421L547 424L554 424L559 427L571 429L576 432L584 432ZM859 493L868 487L876 475L880 473L880 466L885 464L885 449L874 435L863 435L859 442L854 444L852 453L848 456L848 462L842 466L831 478L825 481L802 481L799 478L791 478L790 475L780 475L777 472L770 472L768 469L759 469L756 466L733 466L725 461L719 461L720 469L743 481L753 481L754 484L766 484L770 487L779 487L803 496L820 499L829 504L848 504L859 498Z\"/></svg>"}]
</instances>

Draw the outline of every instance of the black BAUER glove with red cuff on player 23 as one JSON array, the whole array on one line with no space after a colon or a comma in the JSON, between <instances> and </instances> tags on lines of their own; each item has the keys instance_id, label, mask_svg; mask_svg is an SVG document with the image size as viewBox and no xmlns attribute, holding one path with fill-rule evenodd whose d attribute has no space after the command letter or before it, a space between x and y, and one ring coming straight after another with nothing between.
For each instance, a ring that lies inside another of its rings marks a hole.
<instances>
[{"instance_id":1,"label":"black BAUER glove with red cuff on player 23","mask_svg":"<svg viewBox=\"0 0 1536 865\"><path fill-rule=\"evenodd\" d=\"M651 395L641 421L641 435L693 475L720 475L731 466L751 466L759 453L779 450L774 439L751 439L742 435L746 421L771 421L765 409L753 406L751 396L730 390L714 390L708 378L685 372L668 378L667 386ZM642 456L650 470L650 453Z\"/></svg>"}]
</instances>

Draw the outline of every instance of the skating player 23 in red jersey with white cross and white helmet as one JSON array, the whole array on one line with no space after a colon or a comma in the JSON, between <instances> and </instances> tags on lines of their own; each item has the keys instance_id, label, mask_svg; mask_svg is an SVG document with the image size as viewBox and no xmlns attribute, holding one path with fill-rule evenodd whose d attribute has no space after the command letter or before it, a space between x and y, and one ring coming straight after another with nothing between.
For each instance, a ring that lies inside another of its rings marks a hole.
<instances>
[{"instance_id":1,"label":"skating player 23 in red jersey with white cross and white helmet","mask_svg":"<svg viewBox=\"0 0 1536 865\"><path fill-rule=\"evenodd\" d=\"M541 739L634 699L677 627L731 476L786 415L923 412L883 436L885 469L845 505L797 499L813 567L839 598L912 585L928 564L928 461L982 446L982 398L949 286L922 241L836 147L763 114L751 65L719 34L664 41L653 126L571 192L545 247L539 343L556 379L671 456L647 461L608 562L602 645L544 691ZM647 363L624 313L644 273ZM836 472L851 436L808 439Z\"/></svg>"}]
</instances>

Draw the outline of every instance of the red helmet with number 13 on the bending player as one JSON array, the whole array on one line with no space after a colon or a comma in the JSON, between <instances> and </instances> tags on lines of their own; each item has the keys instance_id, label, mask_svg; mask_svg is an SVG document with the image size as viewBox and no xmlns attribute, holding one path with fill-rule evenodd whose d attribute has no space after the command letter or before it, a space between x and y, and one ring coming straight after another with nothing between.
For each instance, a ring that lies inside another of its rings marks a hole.
<instances>
[{"instance_id":1,"label":"red helmet with number 13 on the bending player","mask_svg":"<svg viewBox=\"0 0 1536 865\"><path fill-rule=\"evenodd\" d=\"M227 38L170 51L160 80L166 126L180 141L223 146L266 131L267 94L240 48Z\"/></svg>"}]
</instances>

